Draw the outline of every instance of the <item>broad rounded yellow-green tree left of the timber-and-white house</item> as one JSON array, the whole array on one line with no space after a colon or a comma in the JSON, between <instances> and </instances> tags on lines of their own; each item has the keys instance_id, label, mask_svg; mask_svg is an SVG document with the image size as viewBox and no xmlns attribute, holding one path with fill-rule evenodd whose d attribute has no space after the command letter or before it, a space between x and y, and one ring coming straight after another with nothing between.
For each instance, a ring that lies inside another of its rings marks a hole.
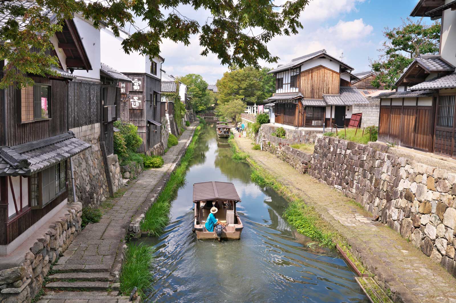
<instances>
[{"instance_id":1,"label":"broad rounded yellow-green tree left of the timber-and-white house","mask_svg":"<svg viewBox=\"0 0 456 303\"><path fill-rule=\"evenodd\" d=\"M217 80L218 103L243 99L250 104L261 104L275 92L275 78L267 74L270 70L252 66L230 68L229 72Z\"/></svg>"}]
</instances>

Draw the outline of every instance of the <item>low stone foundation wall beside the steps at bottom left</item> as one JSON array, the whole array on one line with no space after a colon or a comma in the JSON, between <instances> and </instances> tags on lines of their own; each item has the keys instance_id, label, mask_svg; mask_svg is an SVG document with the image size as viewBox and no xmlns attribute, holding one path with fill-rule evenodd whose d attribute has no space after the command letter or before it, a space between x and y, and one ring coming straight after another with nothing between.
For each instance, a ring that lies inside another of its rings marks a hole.
<instances>
[{"instance_id":1,"label":"low stone foundation wall beside the steps at bottom left","mask_svg":"<svg viewBox=\"0 0 456 303\"><path fill-rule=\"evenodd\" d=\"M67 250L81 232L82 204L67 204L65 209L67 213L49 225L30 250L24 251L23 256L15 256L21 260L17 266L0 270L1 303L31 302L39 293L52 262Z\"/></svg>"}]
</instances>

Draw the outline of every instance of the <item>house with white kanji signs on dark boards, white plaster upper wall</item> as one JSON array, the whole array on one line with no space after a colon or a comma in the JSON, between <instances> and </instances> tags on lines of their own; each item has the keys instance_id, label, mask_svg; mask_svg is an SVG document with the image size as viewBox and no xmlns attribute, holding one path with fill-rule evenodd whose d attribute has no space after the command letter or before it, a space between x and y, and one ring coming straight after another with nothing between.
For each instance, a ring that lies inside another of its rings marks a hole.
<instances>
[{"instance_id":1,"label":"house with white kanji signs on dark boards, white plaster upper wall","mask_svg":"<svg viewBox=\"0 0 456 303\"><path fill-rule=\"evenodd\" d=\"M139 152L161 154L161 63L162 57L150 58L140 52L124 53L121 43L130 37L121 31L115 37L108 28L101 29L101 53L104 63L131 78L119 81L120 119L138 127L143 143Z\"/></svg>"}]
</instances>

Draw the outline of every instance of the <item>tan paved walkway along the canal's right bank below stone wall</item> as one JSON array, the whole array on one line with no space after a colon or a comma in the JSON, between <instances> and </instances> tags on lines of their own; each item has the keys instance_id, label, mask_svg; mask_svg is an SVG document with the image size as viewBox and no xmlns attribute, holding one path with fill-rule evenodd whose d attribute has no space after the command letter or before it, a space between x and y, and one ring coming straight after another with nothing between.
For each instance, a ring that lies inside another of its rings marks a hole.
<instances>
[{"instance_id":1,"label":"tan paved walkway along the canal's right bank below stone wall","mask_svg":"<svg viewBox=\"0 0 456 303\"><path fill-rule=\"evenodd\" d=\"M243 151L314 206L347 239L369 271L401 298L397 302L456 302L456 279L399 233L369 220L370 214L336 189L297 172L267 151L252 150L249 138L235 139Z\"/></svg>"}]
</instances>

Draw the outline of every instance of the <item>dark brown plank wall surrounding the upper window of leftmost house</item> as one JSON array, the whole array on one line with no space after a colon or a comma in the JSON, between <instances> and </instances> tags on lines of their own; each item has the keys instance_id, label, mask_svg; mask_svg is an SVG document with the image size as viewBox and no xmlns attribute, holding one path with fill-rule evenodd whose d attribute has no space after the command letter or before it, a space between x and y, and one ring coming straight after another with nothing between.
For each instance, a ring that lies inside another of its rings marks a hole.
<instances>
[{"instance_id":1,"label":"dark brown plank wall surrounding the upper window of leftmost house","mask_svg":"<svg viewBox=\"0 0 456 303\"><path fill-rule=\"evenodd\" d=\"M29 123L17 123L18 107L16 94L20 90L12 87L6 89L8 117L6 145L16 146L22 143L41 140L67 132L67 93L68 85L65 81L47 78L31 77L36 83L51 85L51 117L48 120L39 120Z\"/></svg>"}]
</instances>

